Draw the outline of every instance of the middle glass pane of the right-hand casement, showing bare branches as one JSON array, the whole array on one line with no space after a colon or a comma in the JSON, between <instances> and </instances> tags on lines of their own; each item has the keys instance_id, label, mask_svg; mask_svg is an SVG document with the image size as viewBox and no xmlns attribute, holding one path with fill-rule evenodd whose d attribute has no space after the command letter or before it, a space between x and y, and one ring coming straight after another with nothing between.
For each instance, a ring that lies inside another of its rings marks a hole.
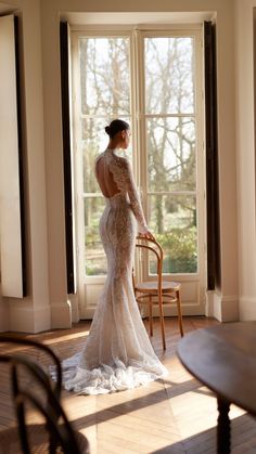
<instances>
[{"instance_id":1,"label":"middle glass pane of the right-hand casement, showing bare branches","mask_svg":"<svg viewBox=\"0 0 256 454\"><path fill-rule=\"evenodd\" d=\"M190 117L148 120L149 191L194 191L195 128Z\"/></svg>"}]
</instances>

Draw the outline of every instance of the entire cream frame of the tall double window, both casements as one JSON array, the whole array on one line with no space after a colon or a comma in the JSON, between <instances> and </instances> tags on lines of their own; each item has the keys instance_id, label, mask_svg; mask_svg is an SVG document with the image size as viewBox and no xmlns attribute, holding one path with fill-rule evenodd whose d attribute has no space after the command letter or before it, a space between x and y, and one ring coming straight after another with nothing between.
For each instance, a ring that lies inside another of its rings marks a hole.
<instances>
[{"instance_id":1,"label":"entire cream frame of the tall double window, both casements","mask_svg":"<svg viewBox=\"0 0 256 454\"><path fill-rule=\"evenodd\" d=\"M199 117L199 121L195 122L195 137L196 137L196 191L193 195L196 196L196 212L201 216L197 216L197 273L179 273L175 274L176 278L179 281L194 281L199 278L199 275L202 273L202 270L205 269L205 222L202 218L205 218L205 177L204 177L204 121L203 121L203 24L167 24L167 25L142 25L140 27L136 25L87 25L87 26L72 26L72 61L73 61L73 94L76 92L74 90L74 85L79 87L77 83L77 78L79 76L78 69L78 53L75 51L75 46L78 42L79 36L84 37L128 37L130 38L130 82L131 82L131 98L130 98L130 115L131 115L131 125L132 125L132 151L136 150L136 153L132 152L132 164L133 172L137 184L142 193L142 205L148 218L148 206L145 204L142 187L148 193L148 181L146 172L144 169L148 169L148 156L145 147L145 118L149 116L143 112L144 105L144 74L143 74L143 38L145 37L172 37L172 36L188 36L195 39L195 109L194 117ZM76 56L75 56L76 54ZM75 57L74 57L75 56ZM135 64L137 59L137 65ZM197 86L201 87L201 90L197 90ZM137 93L137 95L132 95ZM140 95L138 95L140 93ZM79 96L79 93L77 93ZM77 112L77 100L73 95L73 104L75 106L74 111ZM156 115L153 115L154 117ZM161 116L161 115L159 115ZM163 115L162 115L163 116ZM169 114L169 117L177 117L177 114ZM192 117L192 115L190 115ZM74 114L73 128L74 128L74 138L77 138L77 132L79 129L79 121L76 120L76 114ZM95 116L97 117L97 116ZM77 247L77 270L82 270L84 268L84 255L85 255L85 242L84 242L84 232L81 231L81 224L84 220L84 197L80 200L78 195L79 185L82 183L82 163L80 161L81 156L78 157L77 153L78 146L76 140L74 140L74 153L75 158L75 205L77 210L77 222L76 222L76 234L78 237L78 244L80 247ZM143 163L143 165L142 165ZM201 174L199 182L199 174ZM169 194L169 193L168 193ZM95 194L87 194L87 196L100 196L100 192ZM202 229L200 235L200 229ZM81 239L82 238L82 239ZM84 245L84 250L79 250ZM148 263L143 264L144 273L149 274ZM143 273L143 274L144 274ZM86 273L79 272L79 282L85 284L103 284L105 281L105 275L94 275L88 276ZM166 275L167 278L170 278L170 274ZM149 277L151 278L151 277Z\"/></svg>"}]
</instances>

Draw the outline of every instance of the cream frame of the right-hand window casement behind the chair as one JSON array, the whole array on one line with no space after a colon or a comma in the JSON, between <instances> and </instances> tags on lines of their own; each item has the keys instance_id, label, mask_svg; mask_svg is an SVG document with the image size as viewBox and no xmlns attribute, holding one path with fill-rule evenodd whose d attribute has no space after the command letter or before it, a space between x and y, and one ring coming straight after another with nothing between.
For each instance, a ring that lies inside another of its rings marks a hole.
<instances>
[{"instance_id":1,"label":"cream frame of the right-hand window casement behind the chair","mask_svg":"<svg viewBox=\"0 0 256 454\"><path fill-rule=\"evenodd\" d=\"M143 39L144 38L157 38L157 37L191 37L194 38L194 49L195 49L195 59L194 59L194 113L188 114L188 117L193 117L195 119L195 150L196 150L196 189L191 192L196 198L196 226L197 226L197 272L195 273L175 273L175 278L179 281L190 281L196 280L197 276L205 269L206 262L206 239L205 239L205 177L204 177L204 159L205 159L205 150L204 150L204 122L203 122L203 101L204 101L204 91L203 91L203 25L193 25L192 27L187 26L171 26L167 29L140 29L137 31L137 43L138 53L141 57L141 65L144 60L143 55ZM139 87L140 87L140 105L138 109L138 119L140 119L141 125L138 127L141 134L141 140L139 142L139 150L137 153L137 168L139 171L139 182L142 193L142 205L148 219L149 215L149 200L148 196L153 195L153 192L149 192L148 187L148 172L144 171L144 168L148 169L148 153L146 153L146 118L150 117L159 117L162 118L163 114L146 114L144 111L145 99L144 99L144 72L141 68L138 74ZM201 87L201 90L197 89ZM178 117L178 114L167 114L165 117ZM182 117L182 115L181 115ZM143 163L143 166L141 165ZM144 193L146 195L144 196ZM189 195L189 192L176 192L178 195ZM169 195L170 192L166 193ZM161 193L164 195L164 193ZM146 198L146 203L144 200ZM201 230L202 229L202 230ZM142 271L143 278L153 280L154 276L150 274L149 271L149 261L146 260L146 255L144 255ZM174 274L172 274L174 276ZM165 274L165 278L171 278L171 274Z\"/></svg>"}]
</instances>

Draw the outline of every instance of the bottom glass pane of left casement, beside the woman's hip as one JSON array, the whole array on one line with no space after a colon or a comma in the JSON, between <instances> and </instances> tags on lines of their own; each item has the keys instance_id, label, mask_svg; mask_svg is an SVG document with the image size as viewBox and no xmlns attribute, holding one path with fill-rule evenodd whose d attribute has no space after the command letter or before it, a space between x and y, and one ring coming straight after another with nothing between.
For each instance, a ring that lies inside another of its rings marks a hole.
<instances>
[{"instance_id":1,"label":"bottom glass pane of left casement, beside the woman's hip","mask_svg":"<svg viewBox=\"0 0 256 454\"><path fill-rule=\"evenodd\" d=\"M104 206L103 197L85 198L85 269L89 276L106 274L106 258L99 234L99 222Z\"/></svg>"}]
</instances>

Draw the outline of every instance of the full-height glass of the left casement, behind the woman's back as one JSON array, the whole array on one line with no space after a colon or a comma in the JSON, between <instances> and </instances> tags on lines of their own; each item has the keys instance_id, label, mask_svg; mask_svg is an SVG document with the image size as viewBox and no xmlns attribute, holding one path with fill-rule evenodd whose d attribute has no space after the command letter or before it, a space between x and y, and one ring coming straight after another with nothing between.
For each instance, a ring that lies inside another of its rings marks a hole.
<instances>
[{"instance_id":1,"label":"full-height glass of the left casement, behind the woman's back","mask_svg":"<svg viewBox=\"0 0 256 454\"><path fill-rule=\"evenodd\" d=\"M99 237L104 199L95 181L94 160L106 146L104 127L111 118L124 118L129 122L131 119L129 49L128 37L78 38L84 260L88 276L106 273L106 259Z\"/></svg>"}]
</instances>

